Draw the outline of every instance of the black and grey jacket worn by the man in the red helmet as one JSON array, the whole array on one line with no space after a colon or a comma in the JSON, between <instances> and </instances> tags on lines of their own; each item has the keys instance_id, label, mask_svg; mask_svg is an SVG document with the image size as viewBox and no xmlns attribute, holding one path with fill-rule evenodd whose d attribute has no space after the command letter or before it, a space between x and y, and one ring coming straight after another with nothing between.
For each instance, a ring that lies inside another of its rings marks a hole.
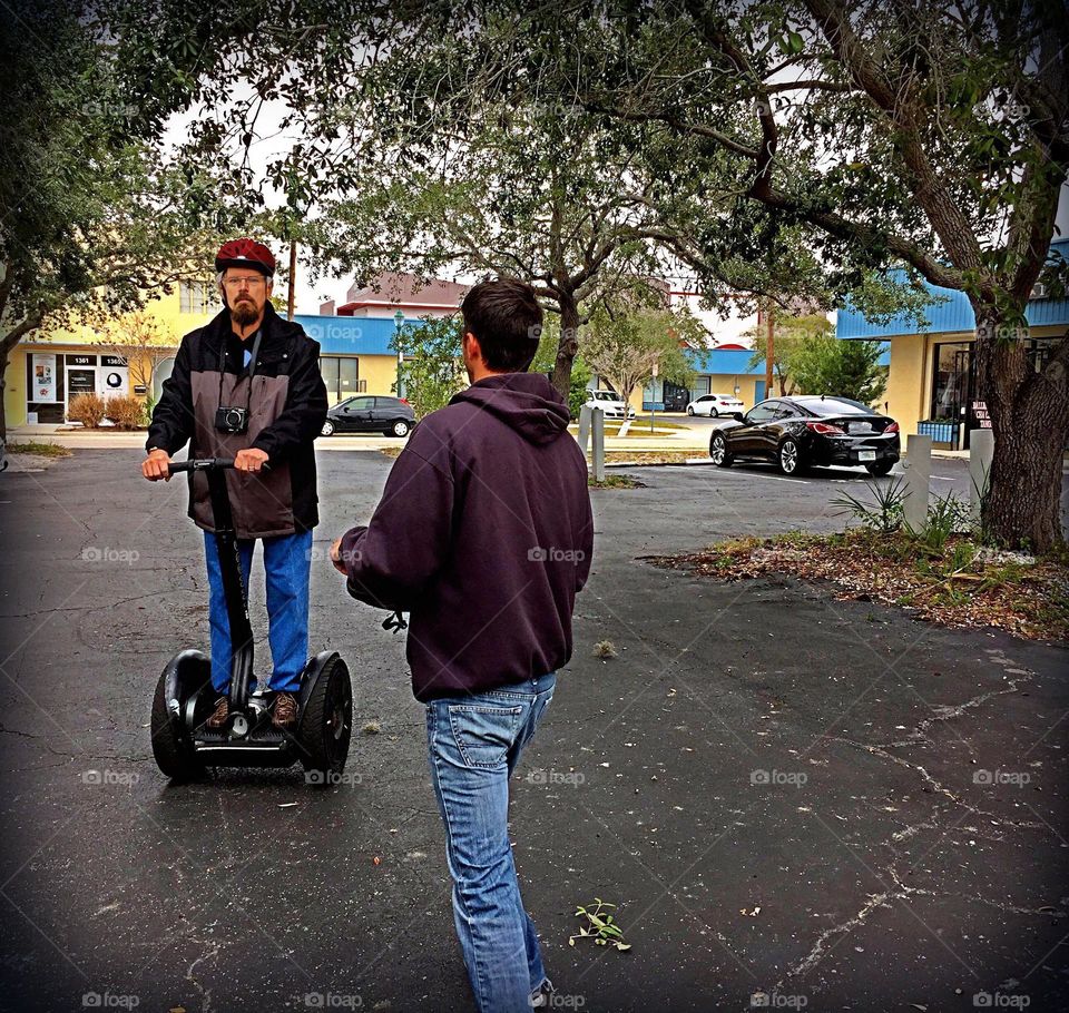
<instances>
[{"instance_id":1,"label":"black and grey jacket worn by the man in the red helmet","mask_svg":"<svg viewBox=\"0 0 1069 1013\"><path fill-rule=\"evenodd\" d=\"M238 538L293 534L320 520L313 442L326 419L320 346L269 303L261 332L252 392L244 357L246 350L252 351L253 336L243 342L234 334L229 311L187 334L174 372L164 381L146 442L146 449L158 446L174 455L189 441L190 458L233 458L249 446L267 454L269 470L226 473ZM248 403L246 433L216 430L220 403L228 407ZM206 531L215 530L204 472L189 474L189 517Z\"/></svg>"}]
</instances>

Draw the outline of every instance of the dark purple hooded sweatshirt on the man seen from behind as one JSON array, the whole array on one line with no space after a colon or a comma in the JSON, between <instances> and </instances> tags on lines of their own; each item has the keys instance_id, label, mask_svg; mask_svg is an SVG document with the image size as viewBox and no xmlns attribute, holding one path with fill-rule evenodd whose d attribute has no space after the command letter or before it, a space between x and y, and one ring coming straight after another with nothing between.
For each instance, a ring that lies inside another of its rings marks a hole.
<instances>
[{"instance_id":1,"label":"dark purple hooded sweatshirt on the man seen from behind","mask_svg":"<svg viewBox=\"0 0 1069 1013\"><path fill-rule=\"evenodd\" d=\"M472 384L415 427L371 523L342 550L354 598L411 612L416 699L565 665L594 550L565 400L541 374Z\"/></svg>"}]
</instances>

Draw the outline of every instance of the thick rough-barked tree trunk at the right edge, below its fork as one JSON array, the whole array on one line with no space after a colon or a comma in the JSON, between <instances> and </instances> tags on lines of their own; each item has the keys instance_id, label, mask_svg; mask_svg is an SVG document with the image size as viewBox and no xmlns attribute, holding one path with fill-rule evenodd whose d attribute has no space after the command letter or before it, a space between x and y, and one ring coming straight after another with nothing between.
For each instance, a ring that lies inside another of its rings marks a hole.
<instances>
[{"instance_id":1,"label":"thick rough-barked tree trunk at the right edge, below its fork","mask_svg":"<svg viewBox=\"0 0 1069 1013\"><path fill-rule=\"evenodd\" d=\"M991 307L977 309L977 390L994 435L984 532L999 544L1047 552L1065 539L1061 469L1069 437L1069 337L1055 338L1036 372L1018 328Z\"/></svg>"}]
</instances>

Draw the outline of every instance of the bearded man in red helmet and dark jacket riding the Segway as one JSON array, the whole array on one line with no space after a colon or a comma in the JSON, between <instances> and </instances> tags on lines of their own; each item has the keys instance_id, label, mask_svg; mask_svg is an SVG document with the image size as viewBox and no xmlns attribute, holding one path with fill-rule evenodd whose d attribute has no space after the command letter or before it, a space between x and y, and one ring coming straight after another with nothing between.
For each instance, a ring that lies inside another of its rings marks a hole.
<instances>
[{"instance_id":1,"label":"bearded man in red helmet and dark jacket riding the Segway","mask_svg":"<svg viewBox=\"0 0 1069 1013\"><path fill-rule=\"evenodd\" d=\"M153 413L141 473L169 480L170 458L233 459L227 491L247 589L256 540L267 577L268 640L274 665L272 722L293 725L308 653L312 529L318 523L314 440L326 417L320 346L271 304L275 258L253 239L224 243L215 258L224 308L187 334ZM227 727L231 624L208 479L189 472L189 517L205 532L212 627L209 729ZM239 647L239 645L238 645ZM249 687L252 689L253 687Z\"/></svg>"}]
</instances>

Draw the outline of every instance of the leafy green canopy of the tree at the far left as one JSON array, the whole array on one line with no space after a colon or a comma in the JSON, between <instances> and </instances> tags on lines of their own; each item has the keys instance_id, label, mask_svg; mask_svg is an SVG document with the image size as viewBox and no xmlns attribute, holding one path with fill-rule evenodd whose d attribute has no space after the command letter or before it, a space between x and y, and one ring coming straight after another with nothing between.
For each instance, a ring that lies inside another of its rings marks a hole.
<instances>
[{"instance_id":1,"label":"leafy green canopy of the tree at the far left","mask_svg":"<svg viewBox=\"0 0 1069 1013\"><path fill-rule=\"evenodd\" d=\"M38 328L100 323L203 277L227 193L161 156L99 11L17 7L0 11L0 386Z\"/></svg>"}]
</instances>

